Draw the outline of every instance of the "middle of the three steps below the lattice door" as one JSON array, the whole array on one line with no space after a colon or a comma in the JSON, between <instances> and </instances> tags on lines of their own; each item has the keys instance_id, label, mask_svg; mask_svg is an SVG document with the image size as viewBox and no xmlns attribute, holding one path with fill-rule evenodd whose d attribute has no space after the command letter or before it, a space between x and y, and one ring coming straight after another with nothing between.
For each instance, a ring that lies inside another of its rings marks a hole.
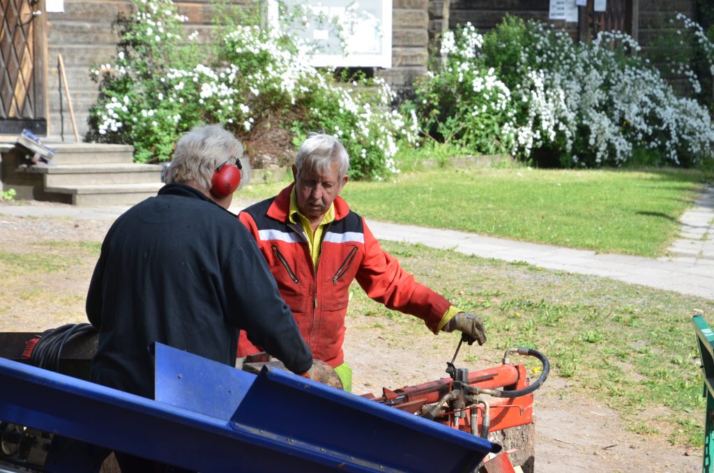
<instances>
[{"instance_id":1,"label":"middle of the three steps below the lattice door","mask_svg":"<svg viewBox=\"0 0 714 473\"><path fill-rule=\"evenodd\" d=\"M45 187L161 183L160 164L58 164L27 166L17 172L44 176Z\"/></svg>"}]
</instances>

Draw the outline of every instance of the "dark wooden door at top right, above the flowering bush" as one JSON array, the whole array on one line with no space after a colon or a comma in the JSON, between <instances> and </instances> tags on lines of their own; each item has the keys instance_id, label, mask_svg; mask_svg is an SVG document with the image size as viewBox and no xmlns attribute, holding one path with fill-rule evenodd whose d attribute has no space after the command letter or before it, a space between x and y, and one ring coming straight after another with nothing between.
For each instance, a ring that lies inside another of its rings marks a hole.
<instances>
[{"instance_id":1,"label":"dark wooden door at top right, above the flowering bush","mask_svg":"<svg viewBox=\"0 0 714 473\"><path fill-rule=\"evenodd\" d=\"M595 11L595 1L580 8L580 40L591 41L600 31L623 31L637 39L638 0L607 0L605 11Z\"/></svg>"}]
</instances>

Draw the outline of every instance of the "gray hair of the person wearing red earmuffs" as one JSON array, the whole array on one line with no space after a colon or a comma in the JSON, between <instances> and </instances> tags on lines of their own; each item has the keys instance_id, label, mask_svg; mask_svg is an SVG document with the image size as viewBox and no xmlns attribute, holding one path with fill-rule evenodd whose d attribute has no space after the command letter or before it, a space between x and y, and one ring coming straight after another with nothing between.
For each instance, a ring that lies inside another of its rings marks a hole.
<instances>
[{"instance_id":1,"label":"gray hair of the person wearing red earmuffs","mask_svg":"<svg viewBox=\"0 0 714 473\"><path fill-rule=\"evenodd\" d=\"M166 171L166 184L196 181L209 191L216 168L226 161L235 164L242 154L241 142L223 126L196 126L178 139L174 159Z\"/></svg>"}]
</instances>

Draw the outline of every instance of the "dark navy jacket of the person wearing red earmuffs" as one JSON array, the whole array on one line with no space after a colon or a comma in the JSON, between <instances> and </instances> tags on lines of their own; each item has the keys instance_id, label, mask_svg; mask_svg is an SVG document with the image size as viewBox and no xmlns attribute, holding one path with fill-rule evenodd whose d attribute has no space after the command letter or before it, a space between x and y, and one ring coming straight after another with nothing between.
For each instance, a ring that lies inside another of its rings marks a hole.
<instances>
[{"instance_id":1,"label":"dark navy jacket of the person wearing red earmuffs","mask_svg":"<svg viewBox=\"0 0 714 473\"><path fill-rule=\"evenodd\" d=\"M233 365L237 330L306 372L312 354L256 242L201 192L169 184L116 219L87 294L99 347L91 379L154 397L152 342Z\"/></svg>"}]
</instances>

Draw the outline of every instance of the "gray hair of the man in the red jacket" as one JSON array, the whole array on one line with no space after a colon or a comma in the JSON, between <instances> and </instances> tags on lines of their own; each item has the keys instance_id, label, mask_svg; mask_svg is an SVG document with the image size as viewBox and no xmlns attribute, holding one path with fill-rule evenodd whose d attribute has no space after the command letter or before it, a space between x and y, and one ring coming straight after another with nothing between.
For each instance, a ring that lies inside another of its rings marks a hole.
<instances>
[{"instance_id":1,"label":"gray hair of the man in the red jacket","mask_svg":"<svg viewBox=\"0 0 714 473\"><path fill-rule=\"evenodd\" d=\"M338 164L338 176L347 174L350 168L350 156L342 143L334 136L324 133L310 133L308 139L303 141L295 156L295 166L298 168L297 175L303 169L318 171L326 174L331 169L330 166L336 162Z\"/></svg>"}]
</instances>

